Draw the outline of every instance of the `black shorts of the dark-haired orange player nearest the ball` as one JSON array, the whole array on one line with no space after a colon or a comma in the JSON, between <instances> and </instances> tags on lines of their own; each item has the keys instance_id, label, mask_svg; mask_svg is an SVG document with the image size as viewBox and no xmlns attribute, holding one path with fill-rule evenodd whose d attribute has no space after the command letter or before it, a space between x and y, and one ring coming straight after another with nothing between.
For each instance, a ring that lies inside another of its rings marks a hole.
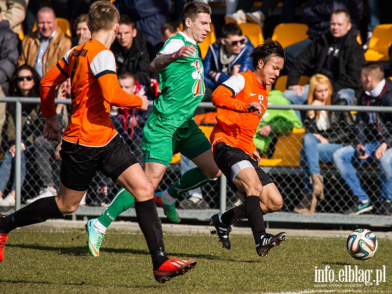
<instances>
[{"instance_id":1,"label":"black shorts of the dark-haired orange player nearest the ball","mask_svg":"<svg viewBox=\"0 0 392 294\"><path fill-rule=\"evenodd\" d=\"M223 142L218 143L214 147L214 160L218 166L218 168L223 172L223 174L227 178L227 183L230 187L237 191L237 187L235 187L232 177L233 171L232 168L237 163L242 161L248 161L251 163L252 167L256 170L258 178L263 186L273 183L274 181L258 166L257 161L254 160L251 155L246 153L244 150L236 147L231 147Z\"/></svg>"}]
</instances>

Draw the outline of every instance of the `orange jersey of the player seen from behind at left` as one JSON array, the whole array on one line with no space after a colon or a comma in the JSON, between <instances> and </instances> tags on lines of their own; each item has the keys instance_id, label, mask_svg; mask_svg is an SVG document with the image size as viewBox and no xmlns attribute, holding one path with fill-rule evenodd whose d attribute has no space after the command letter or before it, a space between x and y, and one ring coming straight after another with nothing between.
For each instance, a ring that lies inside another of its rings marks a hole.
<instances>
[{"instance_id":1,"label":"orange jersey of the player seen from behind at left","mask_svg":"<svg viewBox=\"0 0 392 294\"><path fill-rule=\"evenodd\" d=\"M71 78L72 116L62 138L84 146L100 147L116 135L110 104L140 108L140 97L118 84L114 55L101 42L90 39L69 50L40 84L42 116L56 115L56 85Z\"/></svg>"}]
</instances>

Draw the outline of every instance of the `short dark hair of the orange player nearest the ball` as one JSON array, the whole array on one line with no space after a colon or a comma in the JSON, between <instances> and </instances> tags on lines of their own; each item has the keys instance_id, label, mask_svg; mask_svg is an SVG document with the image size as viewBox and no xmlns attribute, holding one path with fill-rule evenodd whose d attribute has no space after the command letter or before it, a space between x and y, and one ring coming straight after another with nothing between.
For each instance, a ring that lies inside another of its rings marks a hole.
<instances>
[{"instance_id":1,"label":"short dark hair of the orange player nearest the ball","mask_svg":"<svg viewBox=\"0 0 392 294\"><path fill-rule=\"evenodd\" d=\"M262 44L254 48L250 54L252 57L253 68L257 68L258 61L261 59L264 64L271 59L271 57L286 58L284 49L278 41L271 38L266 39Z\"/></svg>"}]
</instances>

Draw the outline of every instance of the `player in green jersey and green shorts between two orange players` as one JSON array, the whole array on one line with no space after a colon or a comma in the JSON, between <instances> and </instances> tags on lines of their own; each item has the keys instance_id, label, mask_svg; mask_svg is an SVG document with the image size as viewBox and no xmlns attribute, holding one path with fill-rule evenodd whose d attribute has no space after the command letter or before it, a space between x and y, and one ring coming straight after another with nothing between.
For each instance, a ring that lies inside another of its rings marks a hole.
<instances>
[{"instance_id":1,"label":"player in green jersey and green shorts between two orange players","mask_svg":"<svg viewBox=\"0 0 392 294\"><path fill-rule=\"evenodd\" d=\"M156 189L173 154L181 152L197 166L185 172L167 190L154 195L168 219L176 223L181 220L175 210L176 199L221 174L209 140L193 119L205 92L197 44L203 42L210 31L210 15L208 4L188 2L182 11L183 31L165 42L150 65L152 72L160 72L162 93L154 100L154 108L143 129L144 172ZM133 204L132 196L126 190L120 190L98 219L87 222L88 246L93 255L99 252L110 223Z\"/></svg>"}]
</instances>

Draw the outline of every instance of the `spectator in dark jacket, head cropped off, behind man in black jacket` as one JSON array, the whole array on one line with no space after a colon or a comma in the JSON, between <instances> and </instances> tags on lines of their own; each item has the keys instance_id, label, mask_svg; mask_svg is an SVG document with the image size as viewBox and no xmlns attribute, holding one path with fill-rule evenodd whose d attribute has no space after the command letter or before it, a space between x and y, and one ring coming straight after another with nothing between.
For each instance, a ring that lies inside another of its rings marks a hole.
<instances>
[{"instance_id":1,"label":"spectator in dark jacket, head cropped off, behind man in black jacket","mask_svg":"<svg viewBox=\"0 0 392 294\"><path fill-rule=\"evenodd\" d=\"M286 60L284 72L290 72L294 60L314 39L330 30L330 19L334 11L343 9L350 13L350 33L358 35L363 15L363 0L308 0L303 10L303 22L308 25L308 38L284 48ZM293 32L295 33L295 32Z\"/></svg>"}]
</instances>

